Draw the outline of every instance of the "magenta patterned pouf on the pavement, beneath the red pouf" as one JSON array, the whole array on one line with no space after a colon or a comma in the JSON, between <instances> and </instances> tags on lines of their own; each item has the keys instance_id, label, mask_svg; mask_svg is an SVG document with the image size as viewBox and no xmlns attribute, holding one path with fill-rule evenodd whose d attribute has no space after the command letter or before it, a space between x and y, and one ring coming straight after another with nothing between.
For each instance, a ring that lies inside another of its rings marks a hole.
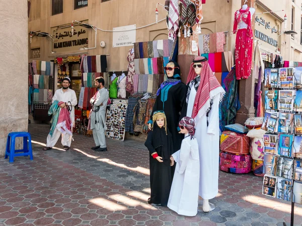
<instances>
[{"instance_id":1,"label":"magenta patterned pouf on the pavement, beneath the red pouf","mask_svg":"<svg viewBox=\"0 0 302 226\"><path fill-rule=\"evenodd\" d=\"M235 174L247 174L252 170L252 158L250 155L237 156L228 153L220 153L219 169Z\"/></svg>"}]
</instances>

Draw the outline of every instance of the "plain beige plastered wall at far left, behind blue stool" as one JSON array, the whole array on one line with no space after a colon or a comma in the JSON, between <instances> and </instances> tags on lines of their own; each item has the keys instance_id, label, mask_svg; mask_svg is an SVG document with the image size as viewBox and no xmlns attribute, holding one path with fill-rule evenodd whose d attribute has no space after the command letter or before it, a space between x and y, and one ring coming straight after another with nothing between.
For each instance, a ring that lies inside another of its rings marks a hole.
<instances>
[{"instance_id":1,"label":"plain beige plastered wall at far left, behind blue stool","mask_svg":"<svg viewBox=\"0 0 302 226\"><path fill-rule=\"evenodd\" d=\"M27 1L0 0L0 157L9 132L28 126Z\"/></svg>"}]
</instances>

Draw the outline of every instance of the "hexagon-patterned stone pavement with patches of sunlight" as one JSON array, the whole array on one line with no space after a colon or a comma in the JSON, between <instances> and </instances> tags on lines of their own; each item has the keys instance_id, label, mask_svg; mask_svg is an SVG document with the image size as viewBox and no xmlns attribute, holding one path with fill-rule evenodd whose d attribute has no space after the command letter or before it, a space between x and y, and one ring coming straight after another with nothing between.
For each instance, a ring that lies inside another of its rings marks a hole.
<instances>
[{"instance_id":1,"label":"hexagon-patterned stone pavement with patches of sunlight","mask_svg":"<svg viewBox=\"0 0 302 226\"><path fill-rule=\"evenodd\" d=\"M41 150L48 125L30 124L34 161L0 160L0 226L3 225L181 225L281 226L290 203L261 194L262 178L220 172L216 209L180 216L146 203L148 152L142 142L107 140L108 152L90 150L93 138L74 135L71 150ZM302 224L295 207L295 225Z\"/></svg>"}]
</instances>

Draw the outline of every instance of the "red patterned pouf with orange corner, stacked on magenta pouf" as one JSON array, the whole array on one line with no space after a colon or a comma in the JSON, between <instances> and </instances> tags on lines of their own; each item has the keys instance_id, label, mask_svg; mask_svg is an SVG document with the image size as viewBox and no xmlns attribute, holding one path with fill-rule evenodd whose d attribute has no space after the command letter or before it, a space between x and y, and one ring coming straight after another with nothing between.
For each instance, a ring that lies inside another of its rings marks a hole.
<instances>
[{"instance_id":1,"label":"red patterned pouf with orange corner, stacked on magenta pouf","mask_svg":"<svg viewBox=\"0 0 302 226\"><path fill-rule=\"evenodd\" d=\"M250 152L251 138L246 134L223 131L220 136L220 150L232 154L247 155Z\"/></svg>"}]
</instances>

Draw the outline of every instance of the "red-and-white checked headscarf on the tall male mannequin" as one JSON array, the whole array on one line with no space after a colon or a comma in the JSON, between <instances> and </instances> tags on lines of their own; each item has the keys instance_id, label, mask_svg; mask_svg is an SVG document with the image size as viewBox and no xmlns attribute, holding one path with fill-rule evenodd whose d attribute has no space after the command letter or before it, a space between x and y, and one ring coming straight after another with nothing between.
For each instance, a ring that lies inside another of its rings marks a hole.
<instances>
[{"instance_id":1,"label":"red-and-white checked headscarf on the tall male mannequin","mask_svg":"<svg viewBox=\"0 0 302 226\"><path fill-rule=\"evenodd\" d=\"M194 59L194 61L201 61L204 59L206 58L198 56ZM187 78L187 84L189 84L197 76L193 68L193 64L194 63L191 63L190 71ZM217 81L216 77L214 76L213 71L211 70L208 64L208 61L205 60L201 62L201 64L202 70L200 74L200 83L194 101L192 118L195 118L199 112L201 112L200 116L203 116L210 108L210 102L212 101L212 99L218 95L219 100L221 100L225 93L222 87L220 86L219 82Z\"/></svg>"}]
</instances>

